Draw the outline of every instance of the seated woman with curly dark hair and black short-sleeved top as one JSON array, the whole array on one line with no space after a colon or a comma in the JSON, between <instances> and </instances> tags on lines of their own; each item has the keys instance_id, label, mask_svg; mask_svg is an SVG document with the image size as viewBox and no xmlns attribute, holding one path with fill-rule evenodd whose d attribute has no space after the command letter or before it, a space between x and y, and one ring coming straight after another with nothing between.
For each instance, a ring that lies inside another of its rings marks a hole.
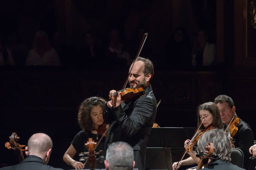
<instances>
[{"instance_id":1,"label":"seated woman with curly dark hair and black short-sleeved top","mask_svg":"<svg viewBox=\"0 0 256 170\"><path fill-rule=\"evenodd\" d=\"M92 138L95 142L98 142L101 138L97 130L103 124L102 113L106 103L107 102L100 97L90 97L85 99L79 107L78 124L82 130L75 135L63 156L63 160L75 169L84 169L85 167L82 162L74 160L73 157L76 153L88 151L84 145L84 143L88 141L88 138ZM103 137L102 141L95 149L96 151L104 149L104 139L105 137ZM103 163L102 165L97 163L96 168L100 168L101 166L104 168Z\"/></svg>"}]
</instances>

